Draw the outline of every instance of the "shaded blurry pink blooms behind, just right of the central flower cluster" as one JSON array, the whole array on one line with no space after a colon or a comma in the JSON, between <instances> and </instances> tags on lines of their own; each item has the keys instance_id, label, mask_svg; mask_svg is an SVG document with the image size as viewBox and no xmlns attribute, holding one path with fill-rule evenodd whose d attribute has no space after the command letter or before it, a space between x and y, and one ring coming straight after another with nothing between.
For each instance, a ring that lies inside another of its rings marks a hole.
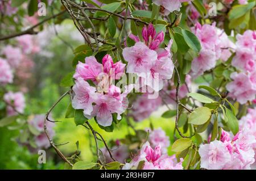
<instances>
[{"instance_id":1,"label":"shaded blurry pink blooms behind, just right of the central flower cluster","mask_svg":"<svg viewBox=\"0 0 256 181\"><path fill-rule=\"evenodd\" d=\"M156 111L161 104L162 100L160 97L156 99L148 99L148 95L143 94L138 96L136 101L133 103L130 116L132 116L135 121L142 121L147 119L152 112Z\"/></svg>"}]
</instances>

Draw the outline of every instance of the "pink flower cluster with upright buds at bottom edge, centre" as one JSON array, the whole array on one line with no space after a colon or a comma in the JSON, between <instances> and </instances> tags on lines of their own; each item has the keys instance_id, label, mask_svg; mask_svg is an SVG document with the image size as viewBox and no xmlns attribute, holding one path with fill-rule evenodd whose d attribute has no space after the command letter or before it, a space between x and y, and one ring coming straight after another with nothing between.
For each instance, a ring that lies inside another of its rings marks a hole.
<instances>
[{"instance_id":1,"label":"pink flower cluster with upright buds at bottom edge, centre","mask_svg":"<svg viewBox=\"0 0 256 181\"><path fill-rule=\"evenodd\" d=\"M137 168L139 162L144 161L143 170L182 170L183 159L177 163L175 155L171 157L161 154L161 146L152 149L149 142L143 144L138 154L133 157L130 163L123 166L123 170Z\"/></svg>"}]
</instances>

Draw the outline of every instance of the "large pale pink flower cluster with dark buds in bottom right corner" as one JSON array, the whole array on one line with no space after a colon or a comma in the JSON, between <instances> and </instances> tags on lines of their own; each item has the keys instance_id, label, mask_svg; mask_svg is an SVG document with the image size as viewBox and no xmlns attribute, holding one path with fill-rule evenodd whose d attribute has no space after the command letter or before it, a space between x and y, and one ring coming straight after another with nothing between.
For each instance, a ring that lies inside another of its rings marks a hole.
<instances>
[{"instance_id":1,"label":"large pale pink flower cluster with dark buds in bottom right corner","mask_svg":"<svg viewBox=\"0 0 256 181\"><path fill-rule=\"evenodd\" d=\"M254 163L255 137L242 130L230 139L228 132L222 131L220 141L214 140L201 145L199 154L201 168L210 170L250 169Z\"/></svg>"}]
</instances>

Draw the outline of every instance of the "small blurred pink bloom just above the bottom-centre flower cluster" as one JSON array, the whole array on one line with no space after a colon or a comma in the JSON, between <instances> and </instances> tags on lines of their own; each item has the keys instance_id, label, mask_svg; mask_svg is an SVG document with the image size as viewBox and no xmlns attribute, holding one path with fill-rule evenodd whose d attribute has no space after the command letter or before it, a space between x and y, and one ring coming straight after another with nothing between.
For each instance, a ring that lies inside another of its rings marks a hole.
<instances>
[{"instance_id":1,"label":"small blurred pink bloom just above the bottom-centre flower cluster","mask_svg":"<svg viewBox=\"0 0 256 181\"><path fill-rule=\"evenodd\" d=\"M156 148L156 146L160 145L161 153L167 153L167 148L170 146L170 138L166 136L166 132L164 132L162 128L150 131L148 138L152 148Z\"/></svg>"}]
</instances>

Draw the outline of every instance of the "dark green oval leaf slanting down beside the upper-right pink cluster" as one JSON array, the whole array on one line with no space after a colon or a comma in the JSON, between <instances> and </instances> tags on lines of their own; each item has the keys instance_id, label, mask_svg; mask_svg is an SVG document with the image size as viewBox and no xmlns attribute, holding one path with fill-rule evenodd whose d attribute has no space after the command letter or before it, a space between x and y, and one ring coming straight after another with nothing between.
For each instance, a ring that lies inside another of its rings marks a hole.
<instances>
[{"instance_id":1,"label":"dark green oval leaf slanting down beside the upper-right pink cluster","mask_svg":"<svg viewBox=\"0 0 256 181\"><path fill-rule=\"evenodd\" d=\"M199 39L197 39L196 35L194 33L188 31L188 30L181 30L181 33L184 37L184 40L188 44L188 47L195 50L196 52L200 52L201 50L201 44Z\"/></svg>"}]
</instances>

